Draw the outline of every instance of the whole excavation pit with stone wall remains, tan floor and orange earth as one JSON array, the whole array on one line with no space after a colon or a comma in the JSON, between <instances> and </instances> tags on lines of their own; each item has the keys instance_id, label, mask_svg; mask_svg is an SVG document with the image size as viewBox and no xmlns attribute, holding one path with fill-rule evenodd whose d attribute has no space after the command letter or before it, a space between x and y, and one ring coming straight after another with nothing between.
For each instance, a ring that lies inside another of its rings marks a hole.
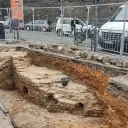
<instances>
[{"instance_id":1,"label":"whole excavation pit with stone wall remains, tan floor and orange earth","mask_svg":"<svg viewBox=\"0 0 128 128\"><path fill-rule=\"evenodd\" d=\"M97 67L52 53L2 48L0 96L20 128L127 128L128 105L107 91L112 74ZM63 87L65 75L69 83ZM13 102L17 95L20 98ZM48 119L41 114L44 110ZM53 123L54 118L58 122Z\"/></svg>"}]
</instances>

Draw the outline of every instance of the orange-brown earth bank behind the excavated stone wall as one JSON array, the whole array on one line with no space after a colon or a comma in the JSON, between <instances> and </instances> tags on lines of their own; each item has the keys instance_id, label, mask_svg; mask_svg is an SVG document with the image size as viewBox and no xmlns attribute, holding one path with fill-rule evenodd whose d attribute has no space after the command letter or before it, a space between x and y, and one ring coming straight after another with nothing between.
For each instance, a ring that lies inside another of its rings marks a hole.
<instances>
[{"instance_id":1,"label":"orange-brown earth bank behind the excavated stone wall","mask_svg":"<svg viewBox=\"0 0 128 128\"><path fill-rule=\"evenodd\" d=\"M85 66L76 65L57 58L40 56L38 54L29 54L29 56L31 56L33 64L61 70L68 74L75 82L88 85L93 89L96 96L103 103L106 124L110 128L128 127L128 105L123 101L115 99L107 92L109 75L104 75ZM40 63L38 60L40 60Z\"/></svg>"}]
</instances>

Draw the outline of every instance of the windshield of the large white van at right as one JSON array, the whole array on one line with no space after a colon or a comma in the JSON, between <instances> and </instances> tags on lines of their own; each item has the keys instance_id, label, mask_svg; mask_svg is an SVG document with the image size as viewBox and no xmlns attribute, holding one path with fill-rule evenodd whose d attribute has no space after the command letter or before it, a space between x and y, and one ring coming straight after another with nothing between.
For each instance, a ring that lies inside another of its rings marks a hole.
<instances>
[{"instance_id":1,"label":"windshield of the large white van at right","mask_svg":"<svg viewBox=\"0 0 128 128\"><path fill-rule=\"evenodd\" d=\"M125 8L122 7L122 8L119 8L116 13L114 14L114 16L112 17L112 19L110 20L111 22L122 22L125 20L124 18L124 15L125 15ZM126 21L128 22L128 13L126 15Z\"/></svg>"}]
</instances>

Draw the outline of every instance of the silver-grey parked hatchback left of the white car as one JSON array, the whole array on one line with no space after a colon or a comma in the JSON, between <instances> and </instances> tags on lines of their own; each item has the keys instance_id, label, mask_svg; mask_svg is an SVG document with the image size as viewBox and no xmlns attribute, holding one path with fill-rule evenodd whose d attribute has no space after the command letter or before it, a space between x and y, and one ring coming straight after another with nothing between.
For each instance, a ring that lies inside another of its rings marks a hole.
<instances>
[{"instance_id":1,"label":"silver-grey parked hatchback left of the white car","mask_svg":"<svg viewBox=\"0 0 128 128\"><path fill-rule=\"evenodd\" d=\"M34 22L31 21L25 25L25 29L28 31L33 30L33 26L34 30L37 31L51 31L51 22L48 20L34 20Z\"/></svg>"}]
</instances>

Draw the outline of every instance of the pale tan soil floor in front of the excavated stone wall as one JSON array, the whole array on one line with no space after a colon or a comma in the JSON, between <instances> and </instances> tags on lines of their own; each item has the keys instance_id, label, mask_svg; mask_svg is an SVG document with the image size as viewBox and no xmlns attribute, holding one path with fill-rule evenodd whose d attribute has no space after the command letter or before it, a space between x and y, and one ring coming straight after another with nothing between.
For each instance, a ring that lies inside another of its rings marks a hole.
<instances>
[{"instance_id":1,"label":"pale tan soil floor in front of the excavated stone wall","mask_svg":"<svg viewBox=\"0 0 128 128\"><path fill-rule=\"evenodd\" d=\"M46 109L25 100L17 91L0 90L0 97L19 128L108 128L102 125L101 118L49 113Z\"/></svg>"}]
</instances>

